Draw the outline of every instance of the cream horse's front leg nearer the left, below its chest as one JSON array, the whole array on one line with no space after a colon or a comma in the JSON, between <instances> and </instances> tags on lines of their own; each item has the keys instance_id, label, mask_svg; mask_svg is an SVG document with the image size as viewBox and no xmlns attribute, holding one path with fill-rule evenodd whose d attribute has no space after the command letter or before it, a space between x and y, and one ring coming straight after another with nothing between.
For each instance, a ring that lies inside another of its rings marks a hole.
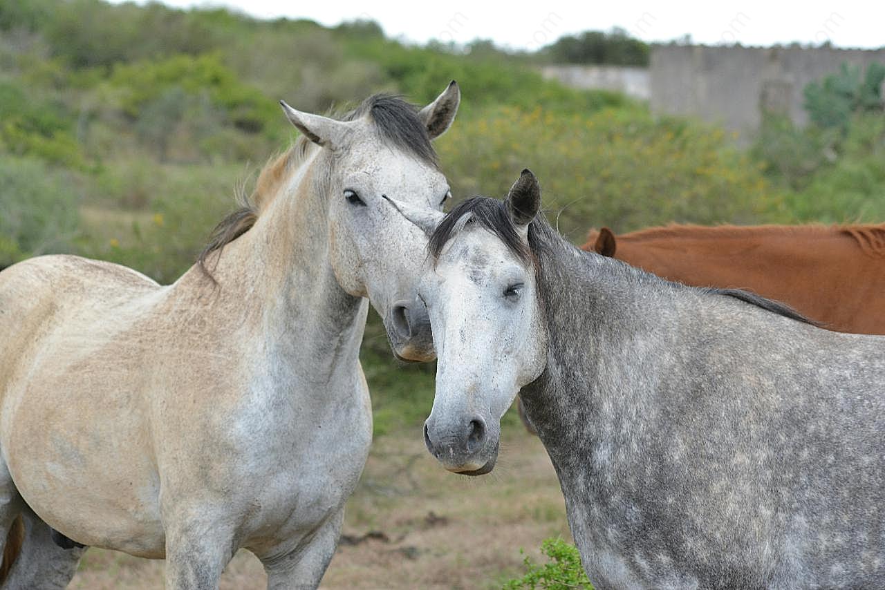
<instances>
[{"instance_id":1,"label":"cream horse's front leg nearer the left, below its chest","mask_svg":"<svg viewBox=\"0 0 885 590\"><path fill-rule=\"evenodd\" d=\"M199 510L176 510L164 517L165 587L167 590L211 590L233 556L233 534L224 517Z\"/></svg>"}]
</instances>

